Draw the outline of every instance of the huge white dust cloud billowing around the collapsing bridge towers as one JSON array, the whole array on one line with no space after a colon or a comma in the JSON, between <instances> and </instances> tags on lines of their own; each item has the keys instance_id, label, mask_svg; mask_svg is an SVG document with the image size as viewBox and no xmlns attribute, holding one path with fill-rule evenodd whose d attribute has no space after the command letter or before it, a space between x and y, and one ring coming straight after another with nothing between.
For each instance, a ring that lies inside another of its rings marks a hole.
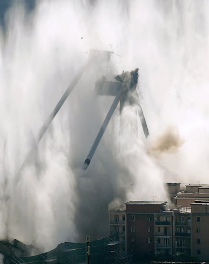
<instances>
[{"instance_id":1,"label":"huge white dust cloud billowing around the collapsing bridge towers","mask_svg":"<svg viewBox=\"0 0 209 264\"><path fill-rule=\"evenodd\" d=\"M45 249L98 238L108 234L112 201L167 200L164 182L207 181L208 9L205 1L42 0L30 14L19 5L7 13L0 38L1 238ZM89 49L120 56L105 70L89 67L36 146ZM116 109L82 178L77 171L113 101L96 98L94 83L135 68L149 140L172 123L184 144L156 163L139 119L136 129L136 107L125 107L120 118ZM34 160L15 187L31 148Z\"/></svg>"}]
</instances>

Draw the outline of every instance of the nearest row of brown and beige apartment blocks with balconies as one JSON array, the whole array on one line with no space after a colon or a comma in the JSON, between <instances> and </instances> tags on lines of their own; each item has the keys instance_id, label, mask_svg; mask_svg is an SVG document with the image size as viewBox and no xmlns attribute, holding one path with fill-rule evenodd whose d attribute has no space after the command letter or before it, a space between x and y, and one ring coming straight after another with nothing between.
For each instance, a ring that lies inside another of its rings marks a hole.
<instances>
[{"instance_id":1,"label":"nearest row of brown and beige apartment blocks with balconies","mask_svg":"<svg viewBox=\"0 0 209 264\"><path fill-rule=\"evenodd\" d=\"M130 201L110 212L110 232L119 234L122 249L144 254L194 255L208 260L209 201L168 209L166 201ZM125 233L124 233L125 231Z\"/></svg>"}]
</instances>

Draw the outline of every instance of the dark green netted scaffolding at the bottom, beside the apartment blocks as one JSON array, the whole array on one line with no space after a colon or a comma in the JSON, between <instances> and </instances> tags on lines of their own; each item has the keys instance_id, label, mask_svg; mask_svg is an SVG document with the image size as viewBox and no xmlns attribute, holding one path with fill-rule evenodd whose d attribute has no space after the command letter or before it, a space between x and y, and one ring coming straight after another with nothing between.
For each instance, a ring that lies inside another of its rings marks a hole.
<instances>
[{"instance_id":1,"label":"dark green netted scaffolding at the bottom, beside the apartment blocks","mask_svg":"<svg viewBox=\"0 0 209 264\"><path fill-rule=\"evenodd\" d=\"M132 256L120 250L117 235L101 238L89 242L91 264L129 264ZM86 264L86 243L64 242L55 249L35 256L12 257L11 264Z\"/></svg>"}]
</instances>

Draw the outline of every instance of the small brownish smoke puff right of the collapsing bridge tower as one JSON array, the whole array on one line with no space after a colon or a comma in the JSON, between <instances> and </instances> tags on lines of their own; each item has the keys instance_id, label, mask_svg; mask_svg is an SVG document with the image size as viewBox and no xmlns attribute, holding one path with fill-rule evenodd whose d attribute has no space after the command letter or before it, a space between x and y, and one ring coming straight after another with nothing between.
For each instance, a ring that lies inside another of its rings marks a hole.
<instances>
[{"instance_id":1,"label":"small brownish smoke puff right of the collapsing bridge tower","mask_svg":"<svg viewBox=\"0 0 209 264\"><path fill-rule=\"evenodd\" d=\"M147 153L152 156L158 156L161 153L174 153L183 143L178 128L169 126L162 135L150 142Z\"/></svg>"}]
</instances>

